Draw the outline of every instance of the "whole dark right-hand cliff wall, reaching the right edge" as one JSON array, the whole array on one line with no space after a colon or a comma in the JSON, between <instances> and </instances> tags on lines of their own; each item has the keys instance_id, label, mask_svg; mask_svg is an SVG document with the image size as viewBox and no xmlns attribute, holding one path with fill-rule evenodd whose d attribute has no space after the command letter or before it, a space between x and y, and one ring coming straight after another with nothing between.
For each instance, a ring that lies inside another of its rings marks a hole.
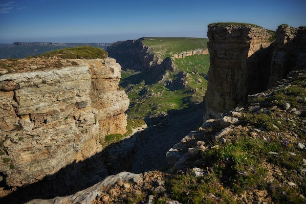
<instances>
[{"instance_id":1,"label":"whole dark right-hand cliff wall, reaching the right edge","mask_svg":"<svg viewBox=\"0 0 306 204\"><path fill-rule=\"evenodd\" d=\"M220 113L245 105L249 94L266 90L297 67L296 64L292 66L293 62L305 64L305 51L301 51L303 48L297 51L293 46L297 30L287 25L279 26L277 40L272 43L273 32L257 25L208 25L210 69L205 117L219 117ZM305 45L305 29L299 30L301 37L295 44L304 41ZM284 59L284 56L287 57Z\"/></svg>"}]
</instances>

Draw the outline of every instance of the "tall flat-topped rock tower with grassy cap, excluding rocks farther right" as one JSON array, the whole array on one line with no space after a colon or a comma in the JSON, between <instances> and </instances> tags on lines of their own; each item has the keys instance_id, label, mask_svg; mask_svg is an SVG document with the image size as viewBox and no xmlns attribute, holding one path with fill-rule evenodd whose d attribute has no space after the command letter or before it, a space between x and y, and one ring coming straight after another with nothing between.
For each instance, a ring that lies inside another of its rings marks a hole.
<instances>
[{"instance_id":1,"label":"tall flat-topped rock tower with grassy cap, excluding rocks farther right","mask_svg":"<svg viewBox=\"0 0 306 204\"><path fill-rule=\"evenodd\" d=\"M260 63L251 58L258 50L268 47L273 32L245 23L213 23L208 25L210 69L205 101L206 115L219 113L242 105L259 83ZM267 66L267 65L263 65ZM265 68L261 68L265 69Z\"/></svg>"}]
</instances>

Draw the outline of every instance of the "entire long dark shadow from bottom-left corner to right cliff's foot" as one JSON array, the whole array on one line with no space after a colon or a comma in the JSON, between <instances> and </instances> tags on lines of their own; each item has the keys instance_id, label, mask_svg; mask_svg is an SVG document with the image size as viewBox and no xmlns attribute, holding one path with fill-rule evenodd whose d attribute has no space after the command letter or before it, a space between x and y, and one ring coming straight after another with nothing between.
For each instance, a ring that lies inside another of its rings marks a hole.
<instances>
[{"instance_id":1,"label":"entire long dark shadow from bottom-left corner to right cliff's foot","mask_svg":"<svg viewBox=\"0 0 306 204\"><path fill-rule=\"evenodd\" d=\"M150 126L148 129L113 143L84 161L73 162L41 181L16 189L10 189L1 181L3 191L13 192L0 198L0 203L23 204L33 199L72 195L122 171L142 173L166 168L166 152L195 130L202 116L203 103L169 111L167 115L157 118L146 118ZM139 164L141 162L144 165Z\"/></svg>"}]
</instances>

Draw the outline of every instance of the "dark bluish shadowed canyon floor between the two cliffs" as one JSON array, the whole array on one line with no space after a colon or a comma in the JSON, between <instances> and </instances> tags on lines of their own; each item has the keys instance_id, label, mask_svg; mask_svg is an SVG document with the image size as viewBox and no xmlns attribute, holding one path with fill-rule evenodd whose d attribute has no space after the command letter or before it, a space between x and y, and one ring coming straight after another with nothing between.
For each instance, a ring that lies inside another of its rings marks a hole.
<instances>
[{"instance_id":1,"label":"dark bluish shadowed canyon floor between the two cliffs","mask_svg":"<svg viewBox=\"0 0 306 204\"><path fill-rule=\"evenodd\" d=\"M163 170L169 166L166 152L190 131L197 129L203 111L203 104L198 104L190 109L170 111L163 118L158 118L159 121L146 121L149 128L144 132L143 140L135 153L131 172Z\"/></svg>"}]
</instances>

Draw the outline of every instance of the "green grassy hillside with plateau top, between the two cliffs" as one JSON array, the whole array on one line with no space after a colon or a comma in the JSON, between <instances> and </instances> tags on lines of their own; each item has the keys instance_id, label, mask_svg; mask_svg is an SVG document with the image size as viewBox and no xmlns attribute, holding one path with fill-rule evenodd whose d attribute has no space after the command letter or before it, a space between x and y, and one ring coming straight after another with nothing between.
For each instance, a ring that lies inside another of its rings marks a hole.
<instances>
[{"instance_id":1,"label":"green grassy hillside with plateau top, between the two cliffs","mask_svg":"<svg viewBox=\"0 0 306 204\"><path fill-rule=\"evenodd\" d=\"M143 43L160 58L172 57L172 54L183 51L206 48L208 39L202 38L145 38ZM182 59L173 59L177 70L186 74L187 86L184 89L168 87L167 80L180 80L175 73L167 71L164 79L153 85L146 85L144 81L127 85L125 82L132 75L133 70L123 71L120 85L127 91L130 102L128 115L130 118L156 117L168 110L183 109L192 103L199 103L207 88L205 79L209 69L209 55L193 55ZM196 91L197 90L197 91Z\"/></svg>"}]
</instances>

